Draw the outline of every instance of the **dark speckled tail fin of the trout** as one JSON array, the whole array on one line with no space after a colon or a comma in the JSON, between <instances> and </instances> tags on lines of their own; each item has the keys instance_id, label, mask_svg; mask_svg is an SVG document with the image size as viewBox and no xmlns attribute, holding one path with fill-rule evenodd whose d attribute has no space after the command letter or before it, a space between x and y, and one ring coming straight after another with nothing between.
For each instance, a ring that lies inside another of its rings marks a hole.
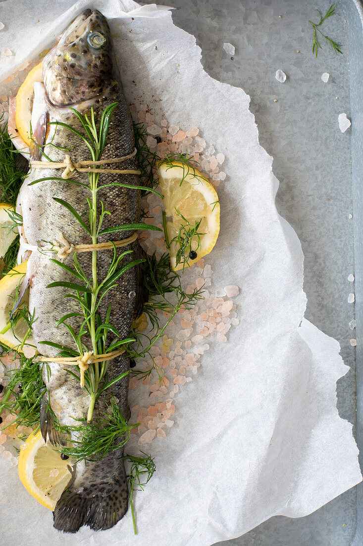
<instances>
[{"instance_id":1,"label":"dark speckled tail fin of the trout","mask_svg":"<svg viewBox=\"0 0 363 546\"><path fill-rule=\"evenodd\" d=\"M112 485L87 484L63 491L53 512L53 526L59 531L76 533L82 525L94 531L110 529L128 510L126 474L113 477Z\"/></svg>"}]
</instances>

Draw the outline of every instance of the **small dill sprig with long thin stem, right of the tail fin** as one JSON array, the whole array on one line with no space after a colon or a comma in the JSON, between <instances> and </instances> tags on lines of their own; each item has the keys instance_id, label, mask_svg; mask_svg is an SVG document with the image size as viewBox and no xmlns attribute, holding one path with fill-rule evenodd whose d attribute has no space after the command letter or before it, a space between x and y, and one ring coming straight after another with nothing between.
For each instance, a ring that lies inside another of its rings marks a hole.
<instances>
[{"instance_id":1,"label":"small dill sprig with long thin stem, right of the tail fin","mask_svg":"<svg viewBox=\"0 0 363 546\"><path fill-rule=\"evenodd\" d=\"M135 457L134 455L124 455L124 459L131 464L130 472L128 473L128 493L135 535L137 535L137 527L134 512L134 491L143 491L155 472L155 463L152 456L143 451L141 453L145 456Z\"/></svg>"}]
</instances>

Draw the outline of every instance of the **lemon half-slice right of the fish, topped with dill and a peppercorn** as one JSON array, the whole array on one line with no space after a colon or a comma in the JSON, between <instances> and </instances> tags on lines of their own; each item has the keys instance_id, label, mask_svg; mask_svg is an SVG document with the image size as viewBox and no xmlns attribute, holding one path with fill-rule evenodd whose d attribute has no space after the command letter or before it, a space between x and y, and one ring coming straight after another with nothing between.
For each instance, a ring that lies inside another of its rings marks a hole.
<instances>
[{"instance_id":1,"label":"lemon half-slice right of the fish, topped with dill and a peppercorn","mask_svg":"<svg viewBox=\"0 0 363 546\"><path fill-rule=\"evenodd\" d=\"M162 161L159 185L164 197L172 269L184 269L209 254L219 234L220 205L211 183L190 165Z\"/></svg>"}]
</instances>

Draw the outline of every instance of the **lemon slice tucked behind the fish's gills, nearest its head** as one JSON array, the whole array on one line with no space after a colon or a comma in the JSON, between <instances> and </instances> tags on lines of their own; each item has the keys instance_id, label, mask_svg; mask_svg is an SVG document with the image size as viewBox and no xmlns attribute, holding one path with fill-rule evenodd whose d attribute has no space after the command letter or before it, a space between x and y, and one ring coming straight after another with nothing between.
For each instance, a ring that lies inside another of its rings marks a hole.
<instances>
[{"instance_id":1,"label":"lemon slice tucked behind the fish's gills, nearest its head","mask_svg":"<svg viewBox=\"0 0 363 546\"><path fill-rule=\"evenodd\" d=\"M32 108L34 98L34 83L43 81L42 63L37 64L27 75L16 95L16 128L23 141L30 146L32 139L30 135L30 126L32 119Z\"/></svg>"}]
</instances>

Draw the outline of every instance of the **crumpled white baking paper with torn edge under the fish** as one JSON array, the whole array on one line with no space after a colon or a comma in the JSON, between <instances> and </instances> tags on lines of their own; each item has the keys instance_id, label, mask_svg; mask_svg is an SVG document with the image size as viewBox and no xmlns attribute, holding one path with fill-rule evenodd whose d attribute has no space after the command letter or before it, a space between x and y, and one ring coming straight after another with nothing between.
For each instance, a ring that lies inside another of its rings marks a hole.
<instances>
[{"instance_id":1,"label":"crumpled white baking paper with torn edge under the fish","mask_svg":"<svg viewBox=\"0 0 363 546\"><path fill-rule=\"evenodd\" d=\"M309 514L361 480L352 425L336 409L347 366L337 341L303 319L302 251L276 211L278 181L250 99L203 71L195 38L170 11L132 0L3 2L0 51L14 55L1 56L0 82L86 7L110 19L129 102L196 125L225 153L221 231L208 261L216 286L240 287L240 323L204 355L202 372L177 395L176 424L150 448L157 470L135 495L137 536L130 511L111 530L62 535L0 459L2 541L15 532L29 544L210 545L273 515Z\"/></svg>"}]
</instances>

